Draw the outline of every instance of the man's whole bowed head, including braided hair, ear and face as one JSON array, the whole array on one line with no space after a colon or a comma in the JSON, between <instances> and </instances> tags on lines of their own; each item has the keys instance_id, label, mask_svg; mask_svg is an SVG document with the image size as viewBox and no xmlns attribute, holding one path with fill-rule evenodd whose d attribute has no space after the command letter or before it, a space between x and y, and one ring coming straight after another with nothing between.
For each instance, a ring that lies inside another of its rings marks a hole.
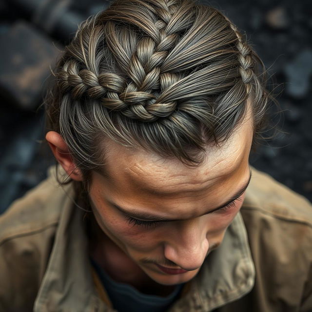
<instances>
[{"instance_id":1,"label":"man's whole bowed head, including braided hair, ear and face","mask_svg":"<svg viewBox=\"0 0 312 312\"><path fill-rule=\"evenodd\" d=\"M161 284L194 277L240 208L268 101L257 60L191 0L114 2L59 60L46 138L103 232Z\"/></svg>"}]
</instances>

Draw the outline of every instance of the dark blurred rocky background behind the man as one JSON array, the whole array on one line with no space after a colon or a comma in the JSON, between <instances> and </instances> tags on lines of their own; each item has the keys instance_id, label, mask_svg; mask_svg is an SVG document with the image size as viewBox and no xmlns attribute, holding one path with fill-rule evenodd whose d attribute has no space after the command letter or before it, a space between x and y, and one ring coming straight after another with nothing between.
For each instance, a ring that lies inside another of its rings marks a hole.
<instances>
[{"instance_id":1,"label":"dark blurred rocky background behind the man","mask_svg":"<svg viewBox=\"0 0 312 312\"><path fill-rule=\"evenodd\" d=\"M203 1L204 2L204 1ZM205 1L238 26L268 70L281 129L251 164L312 200L311 0ZM0 3L0 213L46 177L54 164L40 108L50 69L77 25L102 0Z\"/></svg>"}]
</instances>

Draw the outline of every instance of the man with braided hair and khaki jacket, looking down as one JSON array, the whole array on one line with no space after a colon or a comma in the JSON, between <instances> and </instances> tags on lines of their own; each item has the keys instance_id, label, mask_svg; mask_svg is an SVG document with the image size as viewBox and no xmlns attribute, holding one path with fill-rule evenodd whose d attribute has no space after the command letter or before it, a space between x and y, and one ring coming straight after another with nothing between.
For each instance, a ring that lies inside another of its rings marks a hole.
<instances>
[{"instance_id":1,"label":"man with braided hair and khaki jacket, looking down","mask_svg":"<svg viewBox=\"0 0 312 312\"><path fill-rule=\"evenodd\" d=\"M257 59L191 0L81 25L46 100L58 174L0 217L0 310L312 311L311 203L248 161Z\"/></svg>"}]
</instances>

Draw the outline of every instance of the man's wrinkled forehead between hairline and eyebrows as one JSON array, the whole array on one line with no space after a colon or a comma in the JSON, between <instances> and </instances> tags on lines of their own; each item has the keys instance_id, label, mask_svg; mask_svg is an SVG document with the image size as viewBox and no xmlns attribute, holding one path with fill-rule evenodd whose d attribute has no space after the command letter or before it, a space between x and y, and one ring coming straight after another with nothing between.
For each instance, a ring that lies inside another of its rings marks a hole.
<instances>
[{"instance_id":1,"label":"man's wrinkled forehead between hairline and eyebrows","mask_svg":"<svg viewBox=\"0 0 312 312\"><path fill-rule=\"evenodd\" d=\"M106 168L114 184L154 193L199 191L240 171L248 163L253 138L251 122L245 121L221 148L207 148L198 167L176 158L164 158L143 149L128 149L106 141Z\"/></svg>"}]
</instances>

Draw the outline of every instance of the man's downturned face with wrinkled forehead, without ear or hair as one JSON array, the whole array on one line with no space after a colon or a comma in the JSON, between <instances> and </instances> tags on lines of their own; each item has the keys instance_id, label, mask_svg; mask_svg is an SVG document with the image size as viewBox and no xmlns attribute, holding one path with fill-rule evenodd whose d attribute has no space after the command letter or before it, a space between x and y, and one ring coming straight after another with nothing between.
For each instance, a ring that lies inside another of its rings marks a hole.
<instances>
[{"instance_id":1,"label":"man's downturned face with wrinkled forehead, without ear or hair","mask_svg":"<svg viewBox=\"0 0 312 312\"><path fill-rule=\"evenodd\" d=\"M128 273L137 268L162 285L192 279L242 205L252 137L245 118L227 144L207 149L205 161L195 168L108 142L109 177L94 172L89 195L110 242L109 268L122 272L130 265Z\"/></svg>"}]
</instances>

